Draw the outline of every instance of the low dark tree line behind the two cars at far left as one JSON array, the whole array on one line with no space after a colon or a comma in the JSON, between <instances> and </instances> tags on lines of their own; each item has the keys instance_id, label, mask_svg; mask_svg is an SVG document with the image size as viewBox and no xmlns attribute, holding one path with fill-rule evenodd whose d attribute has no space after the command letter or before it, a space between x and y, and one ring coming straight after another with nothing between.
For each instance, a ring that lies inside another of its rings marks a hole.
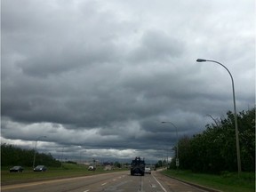
<instances>
[{"instance_id":1,"label":"low dark tree line behind the two cars at far left","mask_svg":"<svg viewBox=\"0 0 256 192\"><path fill-rule=\"evenodd\" d=\"M34 149L22 149L10 144L1 144L1 166L33 166ZM36 164L45 166L59 167L60 161L54 159L51 154L37 153Z\"/></svg>"}]
</instances>

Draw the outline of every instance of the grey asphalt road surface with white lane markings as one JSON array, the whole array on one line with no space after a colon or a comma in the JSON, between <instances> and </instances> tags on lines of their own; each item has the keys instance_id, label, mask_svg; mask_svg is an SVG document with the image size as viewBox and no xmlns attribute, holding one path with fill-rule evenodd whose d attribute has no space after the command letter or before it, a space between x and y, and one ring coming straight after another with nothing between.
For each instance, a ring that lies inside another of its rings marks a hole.
<instances>
[{"instance_id":1,"label":"grey asphalt road surface with white lane markings","mask_svg":"<svg viewBox=\"0 0 256 192\"><path fill-rule=\"evenodd\" d=\"M172 180L159 172L132 176L130 172L114 172L62 180L47 180L7 185L1 191L19 192L200 192L199 188Z\"/></svg>"}]
</instances>

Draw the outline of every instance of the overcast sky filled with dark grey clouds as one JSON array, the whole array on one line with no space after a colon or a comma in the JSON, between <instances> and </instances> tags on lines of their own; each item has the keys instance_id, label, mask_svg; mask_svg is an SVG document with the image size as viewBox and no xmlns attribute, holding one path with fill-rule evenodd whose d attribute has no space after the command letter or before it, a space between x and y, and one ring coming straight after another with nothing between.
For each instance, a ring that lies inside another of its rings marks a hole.
<instances>
[{"instance_id":1,"label":"overcast sky filled with dark grey clouds","mask_svg":"<svg viewBox=\"0 0 256 192\"><path fill-rule=\"evenodd\" d=\"M228 71L198 58L228 68L238 112L255 106L254 0L1 9L1 143L81 162L170 158L177 139L234 110Z\"/></svg>"}]
</instances>

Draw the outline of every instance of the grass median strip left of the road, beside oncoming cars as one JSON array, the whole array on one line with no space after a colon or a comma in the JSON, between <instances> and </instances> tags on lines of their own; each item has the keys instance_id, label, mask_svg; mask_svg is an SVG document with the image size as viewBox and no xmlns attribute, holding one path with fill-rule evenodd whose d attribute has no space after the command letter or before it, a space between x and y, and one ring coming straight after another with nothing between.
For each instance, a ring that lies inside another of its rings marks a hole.
<instances>
[{"instance_id":1,"label":"grass median strip left of the road, beside oncoming cars","mask_svg":"<svg viewBox=\"0 0 256 192\"><path fill-rule=\"evenodd\" d=\"M115 169L104 171L103 167L98 166L96 171L88 171L88 166L82 164L62 164L61 167L48 167L46 172L33 172L31 167L24 167L23 172L9 172L10 167L1 169L1 185L15 184L21 182L31 182L37 180L54 180L71 177L80 177L86 175L119 172L127 169Z\"/></svg>"}]
</instances>

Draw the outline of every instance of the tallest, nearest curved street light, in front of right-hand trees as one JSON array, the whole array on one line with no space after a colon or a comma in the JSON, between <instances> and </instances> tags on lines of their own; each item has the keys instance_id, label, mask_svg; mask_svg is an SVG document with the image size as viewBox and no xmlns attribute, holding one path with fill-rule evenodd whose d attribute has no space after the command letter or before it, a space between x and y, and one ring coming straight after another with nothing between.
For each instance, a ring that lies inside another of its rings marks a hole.
<instances>
[{"instance_id":1,"label":"tallest, nearest curved street light, in front of right-hand trees","mask_svg":"<svg viewBox=\"0 0 256 192\"><path fill-rule=\"evenodd\" d=\"M204 59L197 59L197 62L214 62L222 66L223 68L226 68L223 64L221 64L218 61L215 60L204 60ZM240 147L239 147L239 135L238 135L238 125L237 125L237 116L236 116L236 97L235 97L235 85L234 85L234 80L233 76L231 75L230 71L228 68L226 68L228 71L229 76L231 77L232 81L232 90L233 90L233 103L234 103L234 117L235 117L235 130L236 130L236 156L237 156L237 169L238 169L238 175L240 175L241 172L241 158L240 158Z\"/></svg>"}]
</instances>

